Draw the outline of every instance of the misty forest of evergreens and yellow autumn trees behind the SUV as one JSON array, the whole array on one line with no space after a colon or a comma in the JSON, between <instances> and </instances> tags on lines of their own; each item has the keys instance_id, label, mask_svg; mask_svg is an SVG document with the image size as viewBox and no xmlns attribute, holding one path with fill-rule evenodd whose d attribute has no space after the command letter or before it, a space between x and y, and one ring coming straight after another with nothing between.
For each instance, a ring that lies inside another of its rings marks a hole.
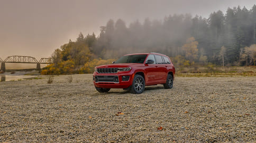
<instances>
[{"instance_id":1,"label":"misty forest of evergreens and yellow autumn trees behind the SUV","mask_svg":"<svg viewBox=\"0 0 256 143\"><path fill-rule=\"evenodd\" d=\"M175 66L255 66L256 5L211 13L208 18L173 14L163 19L145 18L129 26L110 19L96 36L80 33L76 41L54 50L54 64L42 74L92 73L131 53L157 52Z\"/></svg>"}]
</instances>

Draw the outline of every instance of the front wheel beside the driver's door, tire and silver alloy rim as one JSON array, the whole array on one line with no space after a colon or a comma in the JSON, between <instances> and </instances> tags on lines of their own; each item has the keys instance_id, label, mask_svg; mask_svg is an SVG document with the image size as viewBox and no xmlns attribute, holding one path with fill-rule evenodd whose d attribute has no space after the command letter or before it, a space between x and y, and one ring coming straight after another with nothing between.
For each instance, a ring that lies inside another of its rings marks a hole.
<instances>
[{"instance_id":1,"label":"front wheel beside the driver's door, tire and silver alloy rim","mask_svg":"<svg viewBox=\"0 0 256 143\"><path fill-rule=\"evenodd\" d=\"M145 80L141 75L135 75L132 81L130 93L141 94L145 89Z\"/></svg>"}]
</instances>

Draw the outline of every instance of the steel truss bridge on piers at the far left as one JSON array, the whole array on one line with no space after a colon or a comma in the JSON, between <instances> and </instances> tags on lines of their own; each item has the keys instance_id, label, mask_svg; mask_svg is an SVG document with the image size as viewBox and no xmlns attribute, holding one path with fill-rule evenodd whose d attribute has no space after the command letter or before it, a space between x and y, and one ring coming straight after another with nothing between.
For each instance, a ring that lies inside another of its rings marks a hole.
<instances>
[{"instance_id":1,"label":"steel truss bridge on piers at the far left","mask_svg":"<svg viewBox=\"0 0 256 143\"><path fill-rule=\"evenodd\" d=\"M1 71L5 72L5 63L36 64L36 69L41 70L40 64L53 64L53 58L41 58L39 61L30 56L8 56L4 60L0 58Z\"/></svg>"}]
</instances>

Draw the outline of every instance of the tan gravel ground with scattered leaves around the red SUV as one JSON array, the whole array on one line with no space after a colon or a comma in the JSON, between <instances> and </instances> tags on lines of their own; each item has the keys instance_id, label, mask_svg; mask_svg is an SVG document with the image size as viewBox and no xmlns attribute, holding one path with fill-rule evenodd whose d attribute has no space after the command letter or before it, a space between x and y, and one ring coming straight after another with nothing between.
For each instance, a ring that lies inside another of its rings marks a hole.
<instances>
[{"instance_id":1,"label":"tan gravel ground with scattered leaves around the red SUV","mask_svg":"<svg viewBox=\"0 0 256 143\"><path fill-rule=\"evenodd\" d=\"M92 74L0 82L0 142L255 142L256 77L98 93Z\"/></svg>"}]
</instances>

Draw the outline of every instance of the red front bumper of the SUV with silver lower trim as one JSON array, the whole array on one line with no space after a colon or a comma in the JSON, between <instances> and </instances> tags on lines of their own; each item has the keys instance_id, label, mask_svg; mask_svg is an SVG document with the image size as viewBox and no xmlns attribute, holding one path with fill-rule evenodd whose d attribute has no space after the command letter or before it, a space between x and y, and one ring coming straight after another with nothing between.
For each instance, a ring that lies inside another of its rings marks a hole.
<instances>
[{"instance_id":1,"label":"red front bumper of the SUV with silver lower trim","mask_svg":"<svg viewBox=\"0 0 256 143\"><path fill-rule=\"evenodd\" d=\"M127 79L127 76L129 76L129 79ZM94 72L93 83L95 87L99 88L128 88L132 85L133 77L134 75L131 71L122 71L115 74L99 74Z\"/></svg>"}]
</instances>

